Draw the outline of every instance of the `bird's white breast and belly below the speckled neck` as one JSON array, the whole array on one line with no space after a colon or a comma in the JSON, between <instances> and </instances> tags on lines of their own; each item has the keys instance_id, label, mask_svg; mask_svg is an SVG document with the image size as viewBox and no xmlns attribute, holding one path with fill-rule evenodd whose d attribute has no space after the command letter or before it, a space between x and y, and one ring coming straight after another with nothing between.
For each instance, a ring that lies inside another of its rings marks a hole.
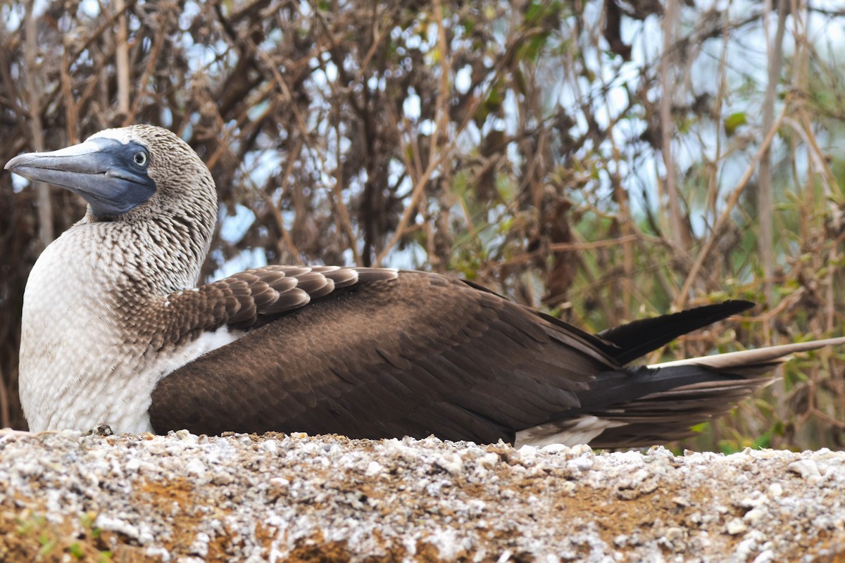
<instances>
[{"instance_id":1,"label":"bird's white breast and belly below the speckled neck","mask_svg":"<svg viewBox=\"0 0 845 563\"><path fill-rule=\"evenodd\" d=\"M150 431L150 394L161 377L243 333L221 328L177 349L151 350L117 322L120 295L103 290L113 280L91 278L108 270L63 252L68 233L41 254L26 284L19 387L30 430Z\"/></svg>"}]
</instances>

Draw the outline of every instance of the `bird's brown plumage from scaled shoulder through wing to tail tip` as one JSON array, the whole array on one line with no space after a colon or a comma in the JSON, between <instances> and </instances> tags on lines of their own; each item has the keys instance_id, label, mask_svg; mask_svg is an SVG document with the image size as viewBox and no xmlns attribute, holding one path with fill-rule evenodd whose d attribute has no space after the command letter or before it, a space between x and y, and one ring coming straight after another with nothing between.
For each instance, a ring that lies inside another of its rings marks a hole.
<instances>
[{"instance_id":1,"label":"bird's brown plumage from scaled shoulder through wing to tail tip","mask_svg":"<svg viewBox=\"0 0 845 563\"><path fill-rule=\"evenodd\" d=\"M224 326L245 334L162 379L150 420L160 432L206 434L668 441L766 385L758 375L784 355L845 342L619 365L746 306L684 311L600 338L436 274L256 268L171 296L174 342Z\"/></svg>"}]
</instances>

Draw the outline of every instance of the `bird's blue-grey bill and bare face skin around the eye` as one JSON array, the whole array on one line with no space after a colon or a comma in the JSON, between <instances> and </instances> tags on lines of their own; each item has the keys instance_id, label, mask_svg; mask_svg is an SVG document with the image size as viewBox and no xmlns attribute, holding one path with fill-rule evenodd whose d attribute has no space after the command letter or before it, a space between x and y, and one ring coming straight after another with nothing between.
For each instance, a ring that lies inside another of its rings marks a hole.
<instances>
[{"instance_id":1,"label":"bird's blue-grey bill and bare face skin around the eye","mask_svg":"<svg viewBox=\"0 0 845 563\"><path fill-rule=\"evenodd\" d=\"M20 154L5 169L78 193L97 218L116 217L155 193L149 151L139 143L95 138L49 153Z\"/></svg>"}]
</instances>

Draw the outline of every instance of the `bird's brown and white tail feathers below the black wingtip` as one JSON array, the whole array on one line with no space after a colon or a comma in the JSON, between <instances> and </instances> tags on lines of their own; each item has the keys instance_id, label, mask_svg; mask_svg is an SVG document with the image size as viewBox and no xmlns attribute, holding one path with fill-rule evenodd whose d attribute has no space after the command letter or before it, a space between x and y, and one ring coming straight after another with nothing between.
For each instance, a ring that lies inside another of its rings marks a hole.
<instances>
[{"instance_id":1,"label":"bird's brown and white tail feathers below the black wingtip","mask_svg":"<svg viewBox=\"0 0 845 563\"><path fill-rule=\"evenodd\" d=\"M695 435L693 425L727 413L793 354L845 344L845 338L785 344L599 374L579 393L581 408L517 434L521 443L644 447ZM577 423L577 424L575 424Z\"/></svg>"}]
</instances>

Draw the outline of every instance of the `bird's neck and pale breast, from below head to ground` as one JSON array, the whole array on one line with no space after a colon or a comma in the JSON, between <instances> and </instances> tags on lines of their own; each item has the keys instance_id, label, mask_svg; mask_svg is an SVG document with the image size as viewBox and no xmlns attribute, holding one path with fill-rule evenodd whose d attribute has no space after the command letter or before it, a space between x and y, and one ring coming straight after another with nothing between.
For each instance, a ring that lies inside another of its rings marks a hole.
<instances>
[{"instance_id":1,"label":"bird's neck and pale breast, from below head to ground","mask_svg":"<svg viewBox=\"0 0 845 563\"><path fill-rule=\"evenodd\" d=\"M30 430L151 430L155 383L195 355L163 349L161 329L167 295L196 283L210 238L197 228L173 215L88 216L42 252L26 284L21 333Z\"/></svg>"}]
</instances>

